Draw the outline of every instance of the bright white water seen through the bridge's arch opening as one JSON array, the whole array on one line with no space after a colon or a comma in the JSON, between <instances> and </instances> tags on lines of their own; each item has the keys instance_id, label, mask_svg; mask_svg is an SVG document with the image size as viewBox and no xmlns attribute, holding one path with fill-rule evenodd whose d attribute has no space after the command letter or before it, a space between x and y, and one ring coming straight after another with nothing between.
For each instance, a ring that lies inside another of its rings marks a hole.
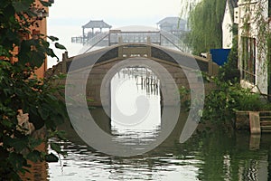
<instances>
[{"instance_id":1,"label":"bright white water seen through the bridge's arch opening","mask_svg":"<svg viewBox=\"0 0 271 181\"><path fill-rule=\"evenodd\" d=\"M160 82L154 72L145 67L127 67L117 72L111 81L111 134L114 140L125 145L147 145L159 134L161 127ZM135 102L141 96L148 103L142 119L136 114ZM121 114L118 112L121 111ZM123 117L122 113L128 117ZM130 117L129 117L130 116ZM128 118L128 119L126 119Z\"/></svg>"}]
</instances>

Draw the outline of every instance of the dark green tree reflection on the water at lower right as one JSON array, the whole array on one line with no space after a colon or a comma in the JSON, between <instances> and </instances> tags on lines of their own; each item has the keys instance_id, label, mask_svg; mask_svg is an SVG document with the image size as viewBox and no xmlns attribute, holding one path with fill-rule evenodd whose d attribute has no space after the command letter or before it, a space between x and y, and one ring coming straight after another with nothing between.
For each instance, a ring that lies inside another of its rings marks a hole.
<instances>
[{"instance_id":1,"label":"dark green tree reflection on the water at lower right","mask_svg":"<svg viewBox=\"0 0 271 181\"><path fill-rule=\"evenodd\" d=\"M199 154L196 158L202 160L198 178L200 180L267 180L267 150L249 150L249 140L246 138L249 137L243 135L229 137L224 133L201 133L197 136L198 146L193 148L198 148ZM185 148L190 147L189 145L189 142L186 143Z\"/></svg>"}]
</instances>

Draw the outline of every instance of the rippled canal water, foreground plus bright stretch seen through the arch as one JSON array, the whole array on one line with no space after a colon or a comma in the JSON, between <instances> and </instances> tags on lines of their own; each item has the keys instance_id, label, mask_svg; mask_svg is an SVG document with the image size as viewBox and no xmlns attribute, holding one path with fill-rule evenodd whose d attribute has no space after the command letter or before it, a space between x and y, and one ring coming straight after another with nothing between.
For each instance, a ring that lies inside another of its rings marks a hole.
<instances>
[{"instance_id":1,"label":"rippled canal water, foreground plus bright stretch seen through the arch","mask_svg":"<svg viewBox=\"0 0 271 181\"><path fill-rule=\"evenodd\" d=\"M118 119L114 108L109 121L103 109L90 110L97 121L106 119L101 122L108 124L100 127L114 136L113 141L125 145L135 146L138 142L146 144L155 140L163 124L157 77L148 69L124 69L116 74L111 83L116 105L124 114L136 112L134 103L139 96L145 96L151 109L144 121L136 124ZM182 112L179 122L185 118L187 115ZM114 157L89 147L69 122L61 129L68 133L68 141L51 141L59 142L68 156L60 156L59 162L48 164L48 180L271 180L271 135L267 134L251 137L248 132L225 133L222 129L201 129L181 144L182 123L178 123L172 134L153 150L134 157Z\"/></svg>"}]
</instances>

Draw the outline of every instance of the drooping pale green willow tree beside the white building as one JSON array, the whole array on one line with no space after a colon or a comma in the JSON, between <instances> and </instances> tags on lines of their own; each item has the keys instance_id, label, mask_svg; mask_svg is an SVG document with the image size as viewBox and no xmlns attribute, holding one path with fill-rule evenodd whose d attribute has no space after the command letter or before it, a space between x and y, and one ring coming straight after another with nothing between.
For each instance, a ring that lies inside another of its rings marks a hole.
<instances>
[{"instance_id":1,"label":"drooping pale green willow tree beside the white building","mask_svg":"<svg viewBox=\"0 0 271 181\"><path fill-rule=\"evenodd\" d=\"M189 13L191 32L185 42L194 54L222 46L222 19L226 0L202 0Z\"/></svg>"}]
</instances>

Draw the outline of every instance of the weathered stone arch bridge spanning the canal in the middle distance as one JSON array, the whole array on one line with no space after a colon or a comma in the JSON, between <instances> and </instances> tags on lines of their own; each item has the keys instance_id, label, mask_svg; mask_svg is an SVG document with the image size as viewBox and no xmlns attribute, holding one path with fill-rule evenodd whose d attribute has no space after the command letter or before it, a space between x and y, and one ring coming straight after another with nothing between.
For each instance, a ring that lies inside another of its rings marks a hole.
<instances>
[{"instance_id":1,"label":"weathered stone arch bridge spanning the canal in the middle distance","mask_svg":"<svg viewBox=\"0 0 271 181\"><path fill-rule=\"evenodd\" d=\"M117 66L120 62L120 66ZM155 63L154 63L155 62ZM153 65L158 67L152 67ZM68 53L63 53L62 62L53 66L46 72L46 77L50 77L55 74L74 72L77 74L75 84L70 86L82 86L86 85L83 89L86 91L87 99L93 101L89 102L90 106L107 106L110 105L110 95L107 93L109 90L108 84L103 87L103 81L105 79L112 79L114 73L125 67L147 67L158 74L159 79L164 79L163 70L169 72L172 81L164 81L161 83L163 87L165 84L175 83L180 87L187 89L197 88L199 81L199 75L196 72L206 72L209 75L215 75L218 73L219 66L212 62L211 59L204 59L199 56L192 56L180 51L174 51L172 49L164 48L160 45L151 43L119 43L100 49L93 52L87 52L74 57L68 57ZM91 70L91 71L86 71ZM112 71L115 70L115 71ZM113 73L108 72L112 71ZM84 73L82 73L84 72ZM88 72L88 75L86 75ZM161 77L162 76L162 77ZM87 79L86 79L87 78ZM166 78L168 79L168 78ZM65 85L66 80L61 80L58 83ZM212 89L213 85L210 82L204 83L205 92ZM106 98L101 99L101 89L107 89ZM166 94L173 94L173 90L168 89ZM75 92L76 94L76 92ZM164 96L164 95L162 95ZM167 100L164 104L171 104L172 100Z\"/></svg>"}]
</instances>

